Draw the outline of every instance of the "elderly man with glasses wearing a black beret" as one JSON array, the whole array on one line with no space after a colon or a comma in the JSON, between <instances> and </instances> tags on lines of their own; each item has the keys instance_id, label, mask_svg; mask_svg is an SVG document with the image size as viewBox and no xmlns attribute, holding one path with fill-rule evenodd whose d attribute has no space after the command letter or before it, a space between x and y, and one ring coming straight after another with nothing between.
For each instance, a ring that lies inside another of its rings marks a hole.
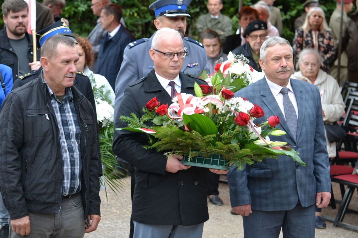
<instances>
[{"instance_id":1,"label":"elderly man with glasses wearing a black beret","mask_svg":"<svg viewBox=\"0 0 358 238\"><path fill-rule=\"evenodd\" d=\"M250 22L244 31L243 37L245 37L247 43L234 49L232 54L245 56L250 61L248 65L261 72L260 48L267 37L266 22L261 20Z\"/></svg>"}]
</instances>

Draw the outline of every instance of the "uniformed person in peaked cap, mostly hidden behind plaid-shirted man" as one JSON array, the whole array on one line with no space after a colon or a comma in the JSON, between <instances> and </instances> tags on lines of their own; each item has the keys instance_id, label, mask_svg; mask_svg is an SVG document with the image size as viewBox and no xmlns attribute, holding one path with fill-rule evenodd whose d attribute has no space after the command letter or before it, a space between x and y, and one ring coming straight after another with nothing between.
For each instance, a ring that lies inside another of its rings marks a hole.
<instances>
[{"instance_id":1,"label":"uniformed person in peaked cap, mostly hidden behind plaid-shirted man","mask_svg":"<svg viewBox=\"0 0 358 238\"><path fill-rule=\"evenodd\" d=\"M74 41L74 36L66 25L63 19L55 22L54 24L36 32L36 39L37 39L37 47L38 49L43 45L46 39L53 35L64 35L71 37ZM18 79L15 80L13 89L21 87L26 83L30 82L33 79L37 79L42 71L42 67L38 70L32 70L24 75L20 75ZM75 86L78 91L80 91L83 96L85 96L93 107L93 110L96 112L96 103L95 97L93 96L91 81L89 81L88 77L80 71L77 71L76 78L74 79L73 86Z\"/></svg>"}]
</instances>

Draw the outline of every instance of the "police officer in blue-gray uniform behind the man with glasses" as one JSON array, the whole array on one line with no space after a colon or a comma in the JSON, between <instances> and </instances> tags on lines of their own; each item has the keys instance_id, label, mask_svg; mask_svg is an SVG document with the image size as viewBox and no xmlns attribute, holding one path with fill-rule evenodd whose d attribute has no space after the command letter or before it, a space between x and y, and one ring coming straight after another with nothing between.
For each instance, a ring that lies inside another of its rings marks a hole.
<instances>
[{"instance_id":1,"label":"police officer in blue-gray uniform behind the man with glasses","mask_svg":"<svg viewBox=\"0 0 358 238\"><path fill-rule=\"evenodd\" d=\"M169 27L179 31L184 37L187 30L187 6L192 0L158 0L153 2L149 8L154 10L156 29ZM115 86L115 116L124 95L127 85L145 77L153 68L153 60L149 57L149 50L155 33L148 39L142 38L127 45L124 50L124 59L121 69L118 72ZM204 46L189 37L183 38L184 50L188 51L188 56L184 59L182 72L197 76L205 69L210 73L207 65L207 56Z\"/></svg>"}]
</instances>

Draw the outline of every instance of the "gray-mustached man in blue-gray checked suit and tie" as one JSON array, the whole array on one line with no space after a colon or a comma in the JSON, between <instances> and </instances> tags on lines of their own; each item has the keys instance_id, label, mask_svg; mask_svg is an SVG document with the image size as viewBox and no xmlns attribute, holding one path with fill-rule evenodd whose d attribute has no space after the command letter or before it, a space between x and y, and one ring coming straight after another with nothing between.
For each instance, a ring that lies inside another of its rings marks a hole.
<instances>
[{"instance_id":1,"label":"gray-mustached man in blue-gray checked suit and tie","mask_svg":"<svg viewBox=\"0 0 358 238\"><path fill-rule=\"evenodd\" d=\"M231 168L231 206L243 216L245 238L279 237L281 228L284 237L314 238L315 208L326 207L331 197L320 93L314 85L290 79L292 47L281 37L263 43L260 65L266 76L235 96L262 107L265 118L256 123L278 116L277 127L287 134L270 140L294 146L306 166L281 155L243 170Z\"/></svg>"}]
</instances>

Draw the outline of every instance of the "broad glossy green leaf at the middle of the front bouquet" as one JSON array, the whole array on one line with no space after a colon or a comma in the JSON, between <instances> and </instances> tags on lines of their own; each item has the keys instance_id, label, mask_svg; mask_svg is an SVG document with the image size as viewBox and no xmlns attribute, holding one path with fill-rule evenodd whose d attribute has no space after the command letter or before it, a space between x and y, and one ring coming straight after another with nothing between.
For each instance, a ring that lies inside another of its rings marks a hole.
<instances>
[{"instance_id":1,"label":"broad glossy green leaf at the middle of the front bouquet","mask_svg":"<svg viewBox=\"0 0 358 238\"><path fill-rule=\"evenodd\" d=\"M201 114L183 114L183 121L189 130L199 132L203 136L217 135L218 133L215 123Z\"/></svg>"}]
</instances>

